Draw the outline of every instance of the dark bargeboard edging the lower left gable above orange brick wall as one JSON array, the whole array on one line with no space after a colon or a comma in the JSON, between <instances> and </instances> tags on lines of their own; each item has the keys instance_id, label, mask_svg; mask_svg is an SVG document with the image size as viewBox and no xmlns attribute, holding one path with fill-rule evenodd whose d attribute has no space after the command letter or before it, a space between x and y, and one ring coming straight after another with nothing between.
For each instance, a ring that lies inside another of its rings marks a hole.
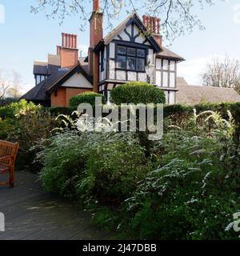
<instances>
[{"instance_id":1,"label":"dark bargeboard edging the lower left gable above orange brick wall","mask_svg":"<svg viewBox=\"0 0 240 256\"><path fill-rule=\"evenodd\" d=\"M90 84L93 83L92 77L86 74L86 71L82 68L81 64L78 62L72 69L66 72L66 74L60 77L56 82L52 83L51 86L48 88L47 93L50 94L53 91L57 90L59 86L62 86L64 82L66 82L71 76L73 76L76 73L81 73L83 77L86 78L88 82L90 82Z\"/></svg>"}]
</instances>

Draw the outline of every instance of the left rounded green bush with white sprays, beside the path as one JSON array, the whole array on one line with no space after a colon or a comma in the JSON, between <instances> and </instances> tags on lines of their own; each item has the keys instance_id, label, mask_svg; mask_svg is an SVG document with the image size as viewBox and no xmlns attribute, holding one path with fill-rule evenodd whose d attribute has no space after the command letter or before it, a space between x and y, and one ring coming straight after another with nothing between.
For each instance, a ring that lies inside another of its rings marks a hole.
<instances>
[{"instance_id":1,"label":"left rounded green bush with white sprays, beside the path","mask_svg":"<svg viewBox=\"0 0 240 256\"><path fill-rule=\"evenodd\" d=\"M38 154L44 165L40 178L48 191L119 205L144 177L144 152L131 134L68 131L49 142Z\"/></svg>"}]
</instances>

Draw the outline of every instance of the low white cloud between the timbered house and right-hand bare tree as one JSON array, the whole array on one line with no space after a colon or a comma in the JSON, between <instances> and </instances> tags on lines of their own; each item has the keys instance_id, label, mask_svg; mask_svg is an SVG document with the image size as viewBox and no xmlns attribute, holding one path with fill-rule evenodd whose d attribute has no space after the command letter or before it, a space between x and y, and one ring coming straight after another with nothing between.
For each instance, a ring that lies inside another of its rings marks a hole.
<instances>
[{"instance_id":1,"label":"low white cloud between the timbered house and right-hand bare tree","mask_svg":"<svg viewBox=\"0 0 240 256\"><path fill-rule=\"evenodd\" d=\"M214 54L212 56L194 58L178 64L178 77L184 77L190 85L202 85L201 74L213 58L224 59L224 56Z\"/></svg>"}]
</instances>

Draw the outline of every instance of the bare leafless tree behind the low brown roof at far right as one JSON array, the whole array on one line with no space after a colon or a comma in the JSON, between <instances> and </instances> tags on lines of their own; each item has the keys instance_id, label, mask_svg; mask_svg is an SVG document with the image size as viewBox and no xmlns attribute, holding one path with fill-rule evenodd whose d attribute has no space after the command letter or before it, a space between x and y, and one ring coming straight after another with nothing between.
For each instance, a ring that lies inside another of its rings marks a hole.
<instances>
[{"instance_id":1,"label":"bare leafless tree behind the low brown roof at far right","mask_svg":"<svg viewBox=\"0 0 240 256\"><path fill-rule=\"evenodd\" d=\"M202 74L204 86L234 88L240 94L240 62L227 56L214 58Z\"/></svg>"}]
</instances>

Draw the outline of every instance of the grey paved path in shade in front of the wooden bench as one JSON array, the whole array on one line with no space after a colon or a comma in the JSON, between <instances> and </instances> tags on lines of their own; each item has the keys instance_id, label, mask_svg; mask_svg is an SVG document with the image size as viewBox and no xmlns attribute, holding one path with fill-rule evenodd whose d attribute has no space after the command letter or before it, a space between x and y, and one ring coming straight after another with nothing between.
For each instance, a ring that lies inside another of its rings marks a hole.
<instances>
[{"instance_id":1,"label":"grey paved path in shade in front of the wooden bench","mask_svg":"<svg viewBox=\"0 0 240 256\"><path fill-rule=\"evenodd\" d=\"M0 240L113 238L93 225L89 213L43 192L37 176L27 172L16 173L14 189L0 187L0 212L6 218L6 231L0 232Z\"/></svg>"}]
</instances>

